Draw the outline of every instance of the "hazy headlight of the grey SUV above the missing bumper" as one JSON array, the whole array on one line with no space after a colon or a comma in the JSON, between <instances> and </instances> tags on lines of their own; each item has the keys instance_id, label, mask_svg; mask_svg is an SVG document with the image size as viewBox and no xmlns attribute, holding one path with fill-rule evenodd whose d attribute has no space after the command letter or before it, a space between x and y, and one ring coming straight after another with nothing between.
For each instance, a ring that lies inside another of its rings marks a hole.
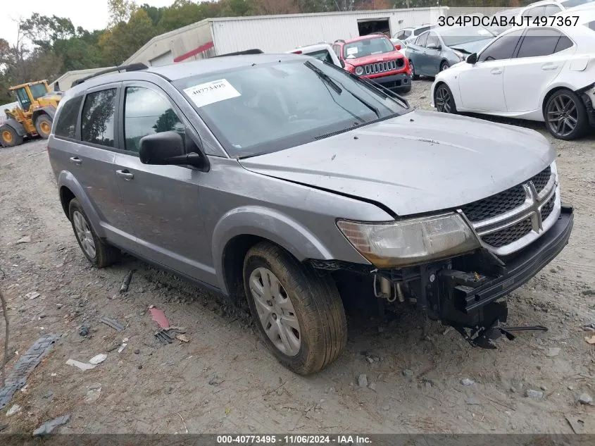
<instances>
[{"instance_id":1,"label":"hazy headlight of the grey SUV above the missing bumper","mask_svg":"<svg viewBox=\"0 0 595 446\"><path fill-rule=\"evenodd\" d=\"M339 220L337 226L353 247L378 268L444 259L480 246L458 213L390 223Z\"/></svg>"}]
</instances>

